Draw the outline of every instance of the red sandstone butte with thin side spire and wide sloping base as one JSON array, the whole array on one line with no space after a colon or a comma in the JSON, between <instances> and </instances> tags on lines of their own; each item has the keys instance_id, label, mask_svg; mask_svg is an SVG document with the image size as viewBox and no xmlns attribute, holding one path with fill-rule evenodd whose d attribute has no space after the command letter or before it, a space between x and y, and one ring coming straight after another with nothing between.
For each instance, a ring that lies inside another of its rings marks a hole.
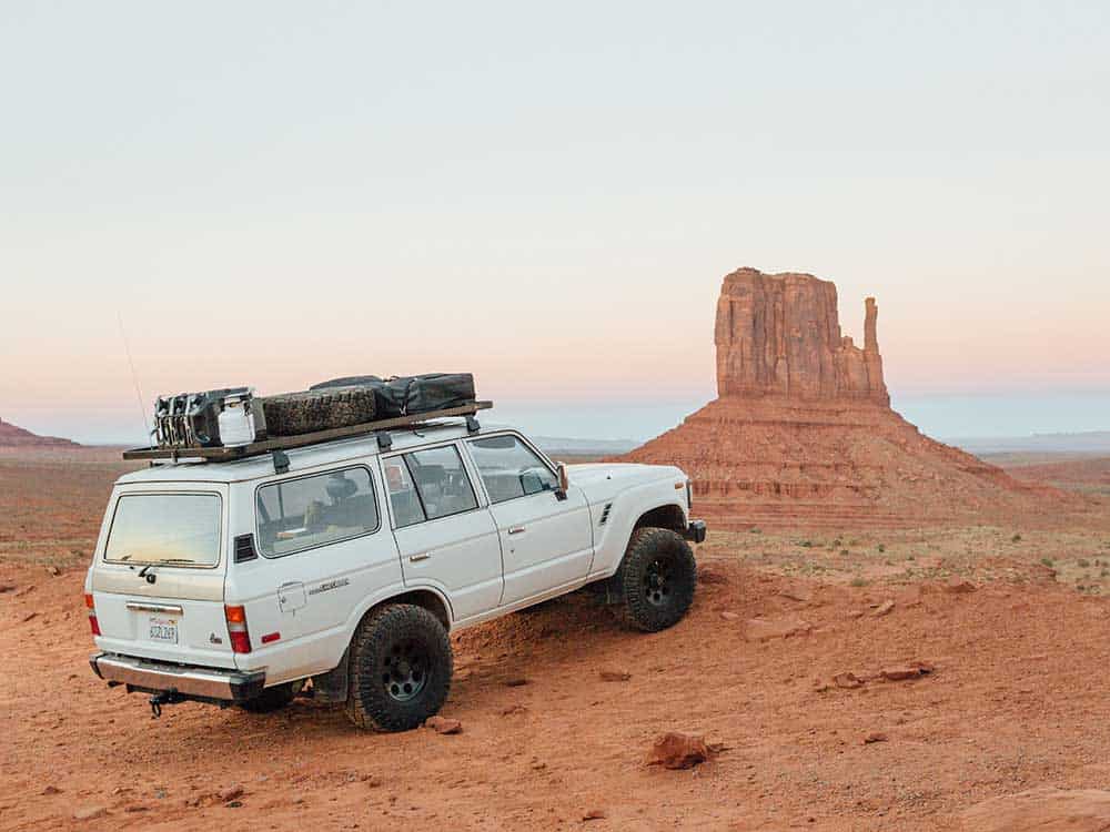
<instances>
[{"instance_id":1,"label":"red sandstone butte with thin side spire and wide sloping base","mask_svg":"<svg viewBox=\"0 0 1110 832\"><path fill-rule=\"evenodd\" d=\"M715 342L718 398L623 458L682 467L717 527L1002 522L1076 507L891 409L875 298L860 347L840 331L834 283L740 268L722 286Z\"/></svg>"}]
</instances>

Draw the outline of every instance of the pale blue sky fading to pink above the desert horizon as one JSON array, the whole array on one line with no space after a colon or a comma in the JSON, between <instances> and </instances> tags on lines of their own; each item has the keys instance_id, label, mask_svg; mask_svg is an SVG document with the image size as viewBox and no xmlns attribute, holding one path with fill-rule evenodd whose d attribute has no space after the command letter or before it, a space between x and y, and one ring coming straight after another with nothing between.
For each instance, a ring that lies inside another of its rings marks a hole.
<instances>
[{"instance_id":1,"label":"pale blue sky fading to pink above the desert horizon","mask_svg":"<svg viewBox=\"0 0 1110 832\"><path fill-rule=\"evenodd\" d=\"M741 265L896 397L1110 390L1103 3L264 10L0 12L0 416L132 423L121 314L145 399L704 399Z\"/></svg>"}]
</instances>

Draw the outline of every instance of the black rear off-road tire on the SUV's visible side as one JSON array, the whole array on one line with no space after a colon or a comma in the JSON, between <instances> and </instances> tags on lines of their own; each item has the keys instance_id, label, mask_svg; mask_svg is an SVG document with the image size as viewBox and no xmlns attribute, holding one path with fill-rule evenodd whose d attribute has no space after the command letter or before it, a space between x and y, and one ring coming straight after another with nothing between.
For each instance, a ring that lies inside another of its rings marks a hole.
<instances>
[{"instance_id":1,"label":"black rear off-road tire on the SUV's visible side","mask_svg":"<svg viewBox=\"0 0 1110 832\"><path fill-rule=\"evenodd\" d=\"M413 655L423 658L405 658ZM423 607L393 603L371 613L359 625L350 656L346 714L359 728L408 731L435 716L447 699L451 641L440 619ZM418 688L403 689L405 671L410 680L421 678Z\"/></svg>"}]
</instances>

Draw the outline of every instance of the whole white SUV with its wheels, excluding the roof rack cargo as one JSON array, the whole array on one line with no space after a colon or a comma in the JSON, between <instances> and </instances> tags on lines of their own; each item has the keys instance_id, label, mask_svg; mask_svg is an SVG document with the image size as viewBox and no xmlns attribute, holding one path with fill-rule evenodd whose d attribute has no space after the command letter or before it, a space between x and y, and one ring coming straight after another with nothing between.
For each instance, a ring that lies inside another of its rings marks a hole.
<instances>
[{"instance_id":1,"label":"whole white SUV with its wheels, excluding the roof rack cargo","mask_svg":"<svg viewBox=\"0 0 1110 832\"><path fill-rule=\"evenodd\" d=\"M161 706L299 693L379 730L451 686L447 633L599 584L643 630L694 599L682 470L555 465L511 428L440 424L153 465L112 491L85 579L97 676ZM311 684L309 681L311 680Z\"/></svg>"}]
</instances>

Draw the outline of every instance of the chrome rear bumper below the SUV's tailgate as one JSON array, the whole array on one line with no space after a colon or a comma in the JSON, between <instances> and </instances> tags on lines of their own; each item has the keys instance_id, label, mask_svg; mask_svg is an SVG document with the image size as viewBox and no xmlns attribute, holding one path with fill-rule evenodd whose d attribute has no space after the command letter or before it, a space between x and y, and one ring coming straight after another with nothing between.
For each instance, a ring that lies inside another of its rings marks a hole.
<instances>
[{"instance_id":1,"label":"chrome rear bumper below the SUV's tailgate","mask_svg":"<svg viewBox=\"0 0 1110 832\"><path fill-rule=\"evenodd\" d=\"M182 697L242 702L261 693L266 682L263 672L169 664L119 653L95 653L89 663L109 684L127 684L129 693L173 691Z\"/></svg>"}]
</instances>

